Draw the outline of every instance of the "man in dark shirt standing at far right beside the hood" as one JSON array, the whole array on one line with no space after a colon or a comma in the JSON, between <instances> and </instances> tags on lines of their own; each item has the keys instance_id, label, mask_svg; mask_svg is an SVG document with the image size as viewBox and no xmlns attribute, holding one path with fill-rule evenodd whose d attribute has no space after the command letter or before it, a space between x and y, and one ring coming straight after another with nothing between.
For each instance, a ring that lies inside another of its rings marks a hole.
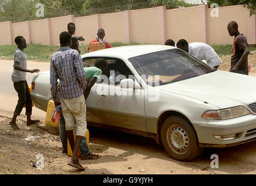
<instances>
[{"instance_id":1,"label":"man in dark shirt standing at far right beside the hood","mask_svg":"<svg viewBox=\"0 0 256 186\"><path fill-rule=\"evenodd\" d=\"M229 71L239 74L248 75L248 49L247 39L239 33L238 24L230 22L227 25L230 36L234 36L234 43L231 54L231 68Z\"/></svg>"}]
</instances>

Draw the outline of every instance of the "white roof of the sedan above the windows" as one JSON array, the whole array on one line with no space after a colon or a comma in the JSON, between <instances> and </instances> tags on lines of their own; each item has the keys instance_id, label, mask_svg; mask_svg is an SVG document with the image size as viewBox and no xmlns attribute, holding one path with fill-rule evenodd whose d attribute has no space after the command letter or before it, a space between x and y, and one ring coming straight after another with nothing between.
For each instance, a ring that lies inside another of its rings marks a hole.
<instances>
[{"instance_id":1,"label":"white roof of the sedan above the windows","mask_svg":"<svg viewBox=\"0 0 256 186\"><path fill-rule=\"evenodd\" d=\"M89 52L82 55L82 58L88 57L109 57L109 58L133 58L135 56L144 55L147 53L163 51L166 49L173 49L175 47L167 45L130 45L123 47L113 47L102 49L99 51Z\"/></svg>"}]
</instances>

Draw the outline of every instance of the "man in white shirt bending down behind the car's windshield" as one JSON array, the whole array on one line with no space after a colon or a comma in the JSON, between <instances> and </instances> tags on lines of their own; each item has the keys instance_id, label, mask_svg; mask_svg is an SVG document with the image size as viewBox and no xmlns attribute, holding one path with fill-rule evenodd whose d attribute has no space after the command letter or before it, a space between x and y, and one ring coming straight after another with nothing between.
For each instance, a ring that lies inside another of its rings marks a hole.
<instances>
[{"instance_id":1,"label":"man in white shirt bending down behind the car's windshield","mask_svg":"<svg viewBox=\"0 0 256 186\"><path fill-rule=\"evenodd\" d=\"M177 42L177 48L189 52L200 60L206 60L208 65L215 69L218 69L219 65L223 63L214 49L204 42L192 42L188 44L186 40L182 39Z\"/></svg>"}]
</instances>

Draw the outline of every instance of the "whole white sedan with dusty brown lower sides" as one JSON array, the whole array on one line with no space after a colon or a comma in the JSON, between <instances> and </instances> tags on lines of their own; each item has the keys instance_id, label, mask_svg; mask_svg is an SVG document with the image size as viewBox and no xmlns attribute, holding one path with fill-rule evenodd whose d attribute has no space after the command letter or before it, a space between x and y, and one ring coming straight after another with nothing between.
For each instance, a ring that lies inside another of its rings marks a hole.
<instances>
[{"instance_id":1,"label":"whole white sedan with dusty brown lower sides","mask_svg":"<svg viewBox=\"0 0 256 186\"><path fill-rule=\"evenodd\" d=\"M98 58L108 62L86 100L88 125L154 138L181 161L197 158L204 147L256 140L254 77L216 70L164 45L109 48L82 58L86 66ZM46 110L49 71L35 74L32 84L35 106Z\"/></svg>"}]
</instances>

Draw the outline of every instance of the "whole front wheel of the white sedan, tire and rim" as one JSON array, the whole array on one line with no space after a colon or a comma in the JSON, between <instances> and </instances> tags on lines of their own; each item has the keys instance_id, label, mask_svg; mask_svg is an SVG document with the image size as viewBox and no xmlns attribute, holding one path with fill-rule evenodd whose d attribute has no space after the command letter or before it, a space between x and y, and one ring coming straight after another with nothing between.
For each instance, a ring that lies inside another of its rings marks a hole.
<instances>
[{"instance_id":1,"label":"whole front wheel of the white sedan, tire and rim","mask_svg":"<svg viewBox=\"0 0 256 186\"><path fill-rule=\"evenodd\" d=\"M168 117L161 128L163 148L170 158L190 162L201 155L197 134L190 123L179 116Z\"/></svg>"}]
</instances>

